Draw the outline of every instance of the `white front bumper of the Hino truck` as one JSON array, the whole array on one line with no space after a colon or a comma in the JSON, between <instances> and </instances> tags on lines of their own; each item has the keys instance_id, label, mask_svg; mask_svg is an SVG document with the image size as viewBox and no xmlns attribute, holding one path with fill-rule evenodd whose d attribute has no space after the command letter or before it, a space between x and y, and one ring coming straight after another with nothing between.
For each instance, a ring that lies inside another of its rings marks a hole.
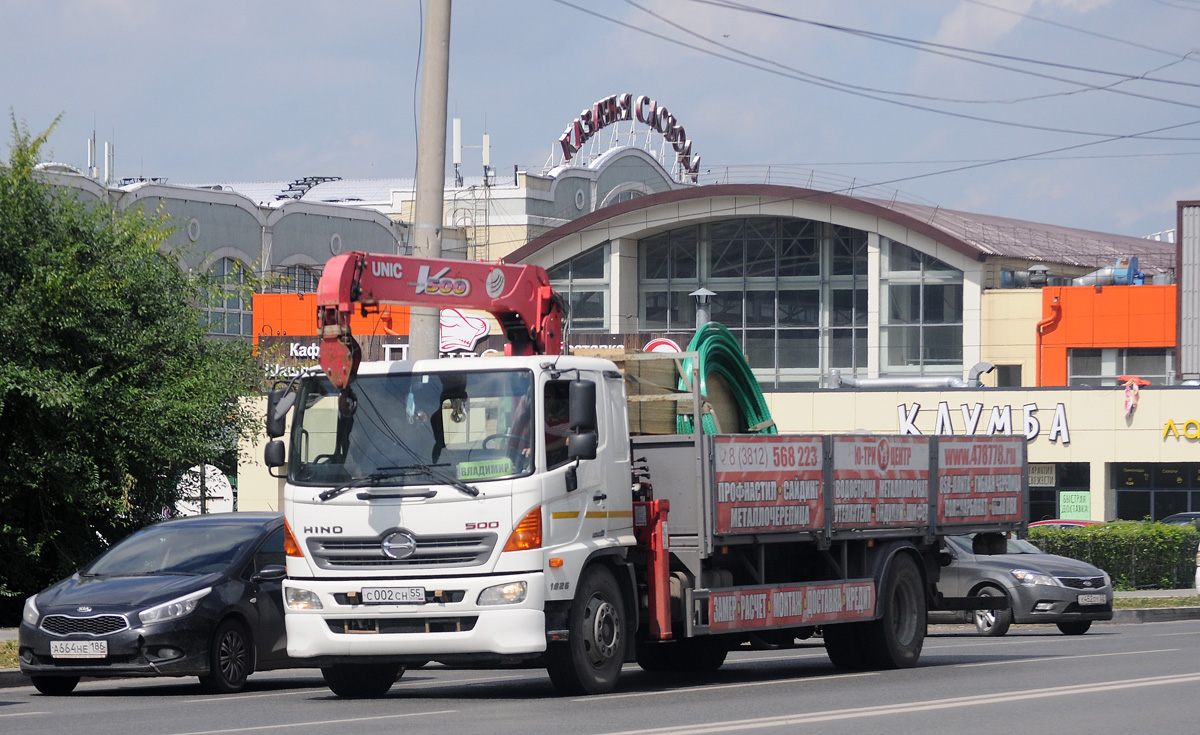
<instances>
[{"instance_id":1,"label":"white front bumper of the Hino truck","mask_svg":"<svg viewBox=\"0 0 1200 735\"><path fill-rule=\"evenodd\" d=\"M480 605L484 590L526 582L520 603ZM365 587L424 586L436 598L419 604L362 604ZM308 580L283 582L316 596L320 609L287 606L288 655L314 664L362 658L438 659L528 657L546 650L541 573L403 580Z\"/></svg>"}]
</instances>

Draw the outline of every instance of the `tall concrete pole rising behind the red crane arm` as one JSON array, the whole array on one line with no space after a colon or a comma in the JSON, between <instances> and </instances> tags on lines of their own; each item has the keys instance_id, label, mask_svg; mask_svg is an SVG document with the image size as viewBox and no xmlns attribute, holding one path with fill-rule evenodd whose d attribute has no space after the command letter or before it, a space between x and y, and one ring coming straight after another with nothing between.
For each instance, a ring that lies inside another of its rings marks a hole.
<instances>
[{"instance_id":1,"label":"tall concrete pole rising behind the red crane arm","mask_svg":"<svg viewBox=\"0 0 1200 735\"><path fill-rule=\"evenodd\" d=\"M426 258L442 257L449 78L450 0L427 0L425 50L421 53L421 116L416 131L416 201L413 205L413 255ZM428 306L412 307L409 359L432 359L440 354L438 311Z\"/></svg>"}]
</instances>

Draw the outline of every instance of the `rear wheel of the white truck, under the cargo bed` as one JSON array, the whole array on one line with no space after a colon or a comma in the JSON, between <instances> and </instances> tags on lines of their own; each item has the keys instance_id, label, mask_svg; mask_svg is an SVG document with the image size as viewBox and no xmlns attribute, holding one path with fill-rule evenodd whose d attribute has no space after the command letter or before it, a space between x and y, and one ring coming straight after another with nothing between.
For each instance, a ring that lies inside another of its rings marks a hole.
<instances>
[{"instance_id":1,"label":"rear wheel of the white truck, under the cargo bed","mask_svg":"<svg viewBox=\"0 0 1200 735\"><path fill-rule=\"evenodd\" d=\"M880 594L883 615L863 623L863 653L872 669L907 669L917 665L925 645L928 625L925 585L917 562L907 554L892 561Z\"/></svg>"}]
</instances>

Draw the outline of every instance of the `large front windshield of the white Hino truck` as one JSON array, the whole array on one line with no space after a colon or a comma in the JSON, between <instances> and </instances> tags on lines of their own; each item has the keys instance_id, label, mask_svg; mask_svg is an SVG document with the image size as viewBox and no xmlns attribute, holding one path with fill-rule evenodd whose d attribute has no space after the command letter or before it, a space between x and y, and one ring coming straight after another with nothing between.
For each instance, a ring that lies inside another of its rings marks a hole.
<instances>
[{"instance_id":1,"label":"large front windshield of the white Hino truck","mask_svg":"<svg viewBox=\"0 0 1200 735\"><path fill-rule=\"evenodd\" d=\"M347 417L328 380L301 383L290 482L474 484L533 471L532 371L360 375L354 393L358 411Z\"/></svg>"}]
</instances>

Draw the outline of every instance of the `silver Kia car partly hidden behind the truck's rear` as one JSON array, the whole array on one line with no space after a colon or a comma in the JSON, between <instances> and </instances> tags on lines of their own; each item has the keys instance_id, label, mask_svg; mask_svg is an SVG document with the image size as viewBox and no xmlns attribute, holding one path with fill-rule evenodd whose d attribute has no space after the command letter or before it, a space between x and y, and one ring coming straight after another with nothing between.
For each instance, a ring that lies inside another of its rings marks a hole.
<instances>
[{"instance_id":1,"label":"silver Kia car partly hidden behind the truck's rear","mask_svg":"<svg viewBox=\"0 0 1200 735\"><path fill-rule=\"evenodd\" d=\"M1112 580L1103 569L1044 554L1019 538L1007 554L976 554L970 536L946 537L949 564L937 590L946 597L1007 594L998 610L930 614L931 622L974 622L980 635L1003 635L1015 623L1055 623L1082 635L1096 620L1112 620ZM949 617L949 620L947 620Z\"/></svg>"}]
</instances>

